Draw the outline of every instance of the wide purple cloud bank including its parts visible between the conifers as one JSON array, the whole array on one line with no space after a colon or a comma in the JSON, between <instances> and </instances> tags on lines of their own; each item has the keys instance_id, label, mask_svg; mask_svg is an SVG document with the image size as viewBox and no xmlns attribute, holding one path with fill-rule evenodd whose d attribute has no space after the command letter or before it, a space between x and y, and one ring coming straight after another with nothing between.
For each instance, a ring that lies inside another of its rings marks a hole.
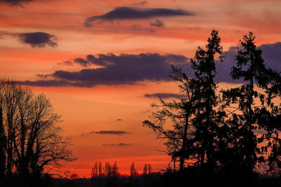
<instances>
[{"instance_id":1,"label":"wide purple cloud bank including its parts visible between the conifers","mask_svg":"<svg viewBox=\"0 0 281 187\"><path fill-rule=\"evenodd\" d=\"M263 50L262 55L268 67L280 71L281 43L265 44L259 48ZM237 55L237 48L230 48L226 53L225 61L216 62L216 81L234 82L230 77L230 69L236 63L235 55ZM181 67L190 77L194 74L189 59L183 55L157 53L87 55L86 58L79 57L72 63L80 64L83 69L74 72L55 71L53 74L41 75L40 78L45 78L44 80L19 83L34 86L93 87L96 85L132 85L141 81L171 81L169 78L171 64ZM92 69L89 67L91 64L100 67ZM242 83L242 80L237 80L235 83ZM145 97L155 97L155 95Z\"/></svg>"}]
</instances>

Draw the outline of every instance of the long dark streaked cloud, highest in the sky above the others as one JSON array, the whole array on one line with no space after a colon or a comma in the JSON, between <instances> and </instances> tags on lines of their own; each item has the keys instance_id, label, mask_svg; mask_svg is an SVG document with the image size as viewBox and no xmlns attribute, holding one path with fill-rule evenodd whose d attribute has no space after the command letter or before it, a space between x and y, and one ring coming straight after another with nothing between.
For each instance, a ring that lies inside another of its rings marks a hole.
<instances>
[{"instance_id":1,"label":"long dark streaked cloud, highest in the sky above the others","mask_svg":"<svg viewBox=\"0 0 281 187\"><path fill-rule=\"evenodd\" d=\"M113 11L103 15L95 15L86 18L85 27L91 27L94 21L114 21L114 20L139 20L148 18L171 17L181 15L194 15L189 11L170 8L133 8L133 7L117 7Z\"/></svg>"}]
</instances>

